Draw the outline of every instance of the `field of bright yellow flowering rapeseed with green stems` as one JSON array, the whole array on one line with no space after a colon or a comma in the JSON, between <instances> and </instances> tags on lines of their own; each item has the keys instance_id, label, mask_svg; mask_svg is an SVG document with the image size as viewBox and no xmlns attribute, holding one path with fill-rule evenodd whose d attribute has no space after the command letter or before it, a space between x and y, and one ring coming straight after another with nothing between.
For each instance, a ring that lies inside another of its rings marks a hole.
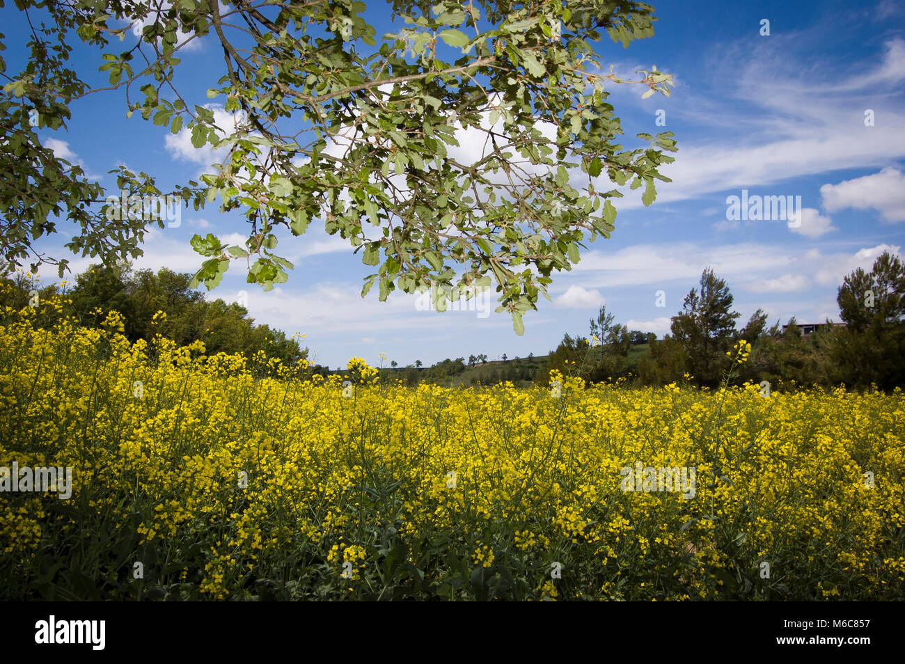
<instances>
[{"instance_id":1,"label":"field of bright yellow flowering rapeseed with green stems","mask_svg":"<svg viewBox=\"0 0 905 664\"><path fill-rule=\"evenodd\" d=\"M71 497L0 494L0 599L905 598L898 391L343 386L31 316L0 467Z\"/></svg>"}]
</instances>

